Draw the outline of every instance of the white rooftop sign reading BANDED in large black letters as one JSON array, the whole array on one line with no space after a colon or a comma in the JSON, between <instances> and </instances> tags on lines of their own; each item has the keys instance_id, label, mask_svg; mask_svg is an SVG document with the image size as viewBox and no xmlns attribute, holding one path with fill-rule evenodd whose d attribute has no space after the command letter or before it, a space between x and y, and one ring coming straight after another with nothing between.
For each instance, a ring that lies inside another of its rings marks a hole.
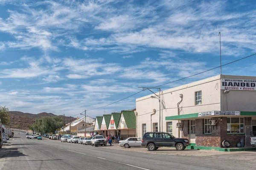
<instances>
[{"instance_id":1,"label":"white rooftop sign reading BANDED in large black letters","mask_svg":"<svg viewBox=\"0 0 256 170\"><path fill-rule=\"evenodd\" d=\"M256 91L256 80L253 79L221 79L221 90Z\"/></svg>"}]
</instances>

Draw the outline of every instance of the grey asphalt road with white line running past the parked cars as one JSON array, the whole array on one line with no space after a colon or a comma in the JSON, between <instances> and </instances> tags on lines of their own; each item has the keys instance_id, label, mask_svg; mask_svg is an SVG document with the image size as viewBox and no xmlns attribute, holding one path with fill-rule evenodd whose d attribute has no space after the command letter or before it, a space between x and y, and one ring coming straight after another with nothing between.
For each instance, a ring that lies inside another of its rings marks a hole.
<instances>
[{"instance_id":1,"label":"grey asphalt road with white line running past the parked cars","mask_svg":"<svg viewBox=\"0 0 256 170\"><path fill-rule=\"evenodd\" d=\"M225 156L170 156L104 147L26 139L25 133L4 144L0 170L255 170L255 161Z\"/></svg>"}]
</instances>

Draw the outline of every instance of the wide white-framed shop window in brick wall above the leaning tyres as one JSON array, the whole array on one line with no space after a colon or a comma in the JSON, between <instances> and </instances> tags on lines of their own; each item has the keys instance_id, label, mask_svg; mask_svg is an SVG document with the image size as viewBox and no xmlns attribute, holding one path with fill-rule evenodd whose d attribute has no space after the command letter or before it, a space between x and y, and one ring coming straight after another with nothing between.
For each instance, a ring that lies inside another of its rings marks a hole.
<instances>
[{"instance_id":1,"label":"wide white-framed shop window in brick wall above the leaning tyres","mask_svg":"<svg viewBox=\"0 0 256 170\"><path fill-rule=\"evenodd\" d=\"M227 117L227 133L244 133L244 118Z\"/></svg>"}]
</instances>

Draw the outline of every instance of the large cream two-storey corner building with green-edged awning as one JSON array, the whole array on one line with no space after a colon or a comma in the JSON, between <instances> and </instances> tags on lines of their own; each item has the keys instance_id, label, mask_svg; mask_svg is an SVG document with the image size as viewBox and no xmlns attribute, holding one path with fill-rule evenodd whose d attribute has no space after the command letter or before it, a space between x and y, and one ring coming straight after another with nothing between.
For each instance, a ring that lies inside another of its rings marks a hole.
<instances>
[{"instance_id":1,"label":"large cream two-storey corner building with green-edged awning","mask_svg":"<svg viewBox=\"0 0 256 170\"><path fill-rule=\"evenodd\" d=\"M191 143L196 143L196 138L199 141L202 136L205 136L204 134L208 134L204 133L206 132L204 128L216 130L217 125L221 124L218 120L222 121L222 118L224 118L224 121L227 120L227 123L221 125L221 127L225 126L226 130L229 130L227 129L228 126L231 129L235 128L235 124L229 123L230 120L233 121L233 118L231 118L233 112L222 111L234 111L234 117L241 117L240 121L244 121L244 125L241 125L241 122L238 123L239 128L245 128L245 125L249 125L245 122L256 119L255 84L256 77L218 75L161 91L160 120L159 99L152 98L151 92L148 91L148 96L136 99L137 136L142 137L145 132L149 131L163 131L172 133L176 137L186 137ZM159 92L156 94L159 95ZM250 120L247 118L250 118ZM204 124L204 121L208 120L209 122L211 119L219 124L216 124L216 126ZM176 127L177 123L179 123L178 128ZM256 126L250 128L256 129ZM196 129L202 131L200 134L198 133L198 136L196 136ZM186 135L184 135L184 130ZM247 135L245 130L239 132L239 137L244 136L245 139ZM209 136L211 136L211 133L209 133ZM220 139L224 138L225 136ZM238 140L233 137L228 137L228 139Z\"/></svg>"}]
</instances>

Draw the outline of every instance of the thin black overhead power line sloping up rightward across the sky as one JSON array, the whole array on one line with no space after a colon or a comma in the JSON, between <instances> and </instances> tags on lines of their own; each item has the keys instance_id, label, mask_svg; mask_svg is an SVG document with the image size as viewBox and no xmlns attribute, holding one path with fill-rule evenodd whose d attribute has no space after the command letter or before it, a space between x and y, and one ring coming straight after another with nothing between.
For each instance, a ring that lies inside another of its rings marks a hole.
<instances>
[{"instance_id":1,"label":"thin black overhead power line sloping up rightward across the sky","mask_svg":"<svg viewBox=\"0 0 256 170\"><path fill-rule=\"evenodd\" d=\"M157 87L160 87L160 86L163 86L163 85L167 85L167 84L170 84L170 83L173 83L173 82L177 82L177 81L180 81L180 80L183 80L183 79L187 79L187 78L190 78L190 77L194 77L194 76L197 76L197 75L199 75L199 74L203 74L203 73L205 73L205 72L212 71L212 70L214 70L214 69L216 69L216 68L220 68L220 67L223 67L223 66L232 64L232 63L234 63L234 62L238 62L238 61L240 61L240 60L242 60L242 59L246 59L246 58L251 57L251 56L254 56L254 55L256 55L256 53L255 53L255 54L252 54L252 55L250 55L250 56L243 57L243 58L241 58L241 59L237 59L237 60L232 61L232 62L228 62L228 63L226 63L226 64L224 64L224 65L220 65L220 66L218 66L218 67L211 68L211 69L209 69L209 70L202 71L202 72L200 72L200 73L193 74L193 75L188 76L188 77L184 77L184 78L182 78L182 79L177 79L177 80L174 80L174 81L172 81L172 82L167 82L167 83L164 83L164 84L162 84L162 85L155 86L155 87L153 87L153 88L157 88ZM250 66L250 65L249 65L249 66ZM248 67L248 66L247 66L247 67ZM142 91L144 91L144 90L142 90ZM139 91L139 92L137 92L137 93L135 93L135 94L132 94L131 96L134 96L134 95L136 95L136 94L138 94L138 93L140 93L140 92L142 92L142 91ZM113 105L113 104L115 104L115 103L117 103L117 102L120 102L120 101L122 101L122 100L128 99L128 98L131 97L131 96L125 97L124 99L118 100L118 101L116 101L116 102L113 102L113 103L111 103L111 104L108 104L108 105L105 105L105 106L102 106L102 107L99 107L99 108L104 108L104 107L106 107L106 106ZM93 110L96 110L96 109L99 109L99 108L94 108L94 109L90 109L90 110L86 110L86 111L93 111ZM84 111L81 112L81 113L84 113ZM80 113L79 113L79 114L80 114ZM76 115L74 115L74 116L77 116L77 115L79 115L79 114L76 114Z\"/></svg>"}]
</instances>

